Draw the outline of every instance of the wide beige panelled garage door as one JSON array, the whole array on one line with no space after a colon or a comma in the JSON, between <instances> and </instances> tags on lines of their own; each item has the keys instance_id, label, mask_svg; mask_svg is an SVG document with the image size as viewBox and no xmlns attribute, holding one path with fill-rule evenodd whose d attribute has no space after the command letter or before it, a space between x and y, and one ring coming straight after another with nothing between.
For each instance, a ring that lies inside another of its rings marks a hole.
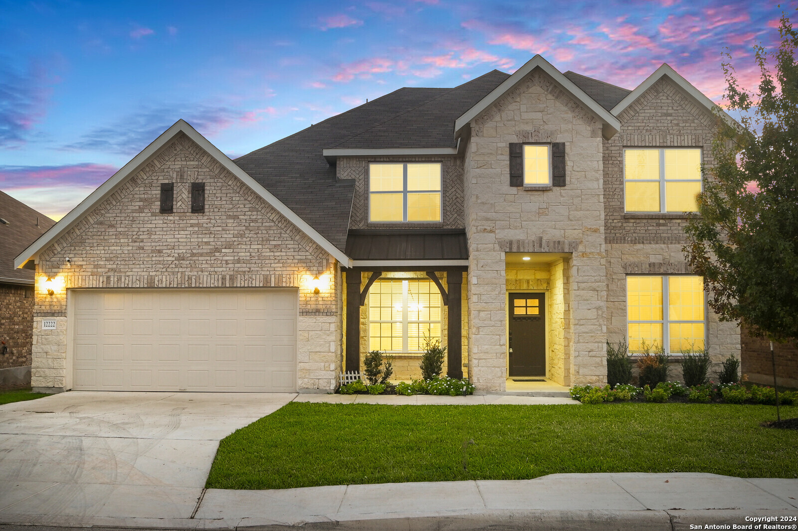
<instances>
[{"instance_id":1,"label":"wide beige panelled garage door","mask_svg":"<svg viewBox=\"0 0 798 531\"><path fill-rule=\"evenodd\" d=\"M77 390L294 391L291 289L70 290Z\"/></svg>"}]
</instances>

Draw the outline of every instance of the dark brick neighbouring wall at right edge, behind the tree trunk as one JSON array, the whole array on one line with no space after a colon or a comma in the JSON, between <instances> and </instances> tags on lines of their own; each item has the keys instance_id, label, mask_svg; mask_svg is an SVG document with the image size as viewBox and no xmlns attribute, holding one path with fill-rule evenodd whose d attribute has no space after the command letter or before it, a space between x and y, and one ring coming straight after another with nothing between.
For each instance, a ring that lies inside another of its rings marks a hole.
<instances>
[{"instance_id":1,"label":"dark brick neighbouring wall at right edge, behind the tree trunk","mask_svg":"<svg viewBox=\"0 0 798 531\"><path fill-rule=\"evenodd\" d=\"M773 384L773 361L770 356L770 341L754 337L748 328L742 327L740 372L757 384ZM776 382L787 387L798 387L798 344L773 343L776 358Z\"/></svg>"}]
</instances>

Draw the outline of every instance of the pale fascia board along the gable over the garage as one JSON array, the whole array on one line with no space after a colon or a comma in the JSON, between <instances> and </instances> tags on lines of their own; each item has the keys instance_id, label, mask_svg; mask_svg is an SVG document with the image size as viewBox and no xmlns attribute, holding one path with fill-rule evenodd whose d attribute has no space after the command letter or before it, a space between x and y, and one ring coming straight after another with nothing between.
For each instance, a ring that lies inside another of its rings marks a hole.
<instances>
[{"instance_id":1,"label":"pale fascia board along the gable over the garage","mask_svg":"<svg viewBox=\"0 0 798 531\"><path fill-rule=\"evenodd\" d=\"M236 163L227 157L227 155L220 151L219 148L216 148L215 145L211 144L209 140L200 135L195 128L192 128L192 126L188 124L188 122L181 119L177 120L171 128L168 128L165 132L163 132L156 140L152 142L152 144L149 144L147 148L144 148L144 151L141 151L138 155L133 157L130 162L125 164L124 167L117 171L117 173L115 173L110 179L105 181L105 183L102 183L97 190L93 191L89 195L89 197L84 199L77 207L70 211L69 214L66 214L64 218L61 218L61 221L53 225L50 230L45 232L45 234L42 234L41 237L33 242L26 250L22 251L22 253L20 253L18 257L14 259L14 267L18 268L22 266L30 258L37 256L42 249L48 246L51 242L55 241L59 236L61 236L61 234L64 234L67 230L71 229L86 213L89 212L89 210L101 203L109 195L113 194L113 192L117 190L117 187L124 183L129 175L134 174L140 167L143 167L144 164L148 163L152 157L156 155L160 148L163 148L164 145L166 145L169 140L172 140L172 138L176 136L178 132L184 132L184 134L196 142L200 148L203 148L205 151L207 151L207 153L214 157L217 162L222 164L227 171L230 171L233 175L241 179L245 184L247 184L248 187L255 191L256 194L263 198L267 203L271 204L275 210L278 210L280 214L285 216L290 222L297 226L299 230L302 230L302 232L307 234L310 239L316 242L318 246L322 247L322 249L326 250L326 252L338 260L338 262L341 262L345 266L348 266L350 262L352 262L351 258L342 253L338 247L334 246L329 240L327 240L327 238L324 238L322 234L319 234L317 230L310 226L304 219L300 218L296 213L294 213L293 210L290 210L290 208L286 207L282 201L272 195L270 191L267 191L267 189L255 179L252 179L252 177L247 174L246 171L243 171Z\"/></svg>"}]
</instances>

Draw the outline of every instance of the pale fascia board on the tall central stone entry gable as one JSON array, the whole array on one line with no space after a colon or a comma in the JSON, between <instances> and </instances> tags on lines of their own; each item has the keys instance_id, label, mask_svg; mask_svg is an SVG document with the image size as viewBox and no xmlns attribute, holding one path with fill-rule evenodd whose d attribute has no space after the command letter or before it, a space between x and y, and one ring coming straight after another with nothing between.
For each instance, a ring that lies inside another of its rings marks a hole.
<instances>
[{"instance_id":1,"label":"pale fascia board on the tall central stone entry gable","mask_svg":"<svg viewBox=\"0 0 798 531\"><path fill-rule=\"evenodd\" d=\"M476 105L472 108L469 108L468 111L464 112L460 115L454 123L454 131L455 134L460 131L461 128L464 128L471 120L479 116L481 112L483 112L488 106L493 104L496 100L498 100L501 96L504 96L505 92L508 92L516 83L521 81L523 77L525 77L528 73L530 73L535 68L539 68L543 70L543 72L547 73L549 76L553 77L559 85L565 88L568 92L571 92L571 95L574 96L579 103L583 104L585 107L589 108L591 112L593 112L596 116L604 122L605 127L603 129L604 137L609 140L612 136L617 133L621 128L621 123L618 121L618 118L610 114L605 108L601 105L596 103L596 101L591 98L591 96L587 96L587 93L584 92L581 88L576 86L573 81L568 79L561 73L558 69L555 69L551 63L543 59L542 56L535 55L532 57L531 60L527 61L525 65L521 68L516 70L512 76L508 77L501 85L494 88L491 92L488 93L488 96L485 96L481 100L479 100Z\"/></svg>"}]
</instances>

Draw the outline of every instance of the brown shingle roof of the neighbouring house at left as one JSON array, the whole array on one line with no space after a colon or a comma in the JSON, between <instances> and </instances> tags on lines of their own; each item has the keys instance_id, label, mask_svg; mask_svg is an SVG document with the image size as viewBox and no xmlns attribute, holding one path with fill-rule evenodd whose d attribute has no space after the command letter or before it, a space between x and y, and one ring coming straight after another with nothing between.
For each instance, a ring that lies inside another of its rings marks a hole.
<instances>
[{"instance_id":1,"label":"brown shingle roof of the neighbouring house at left","mask_svg":"<svg viewBox=\"0 0 798 531\"><path fill-rule=\"evenodd\" d=\"M14 257L55 222L0 191L0 282L33 284L34 272L16 269Z\"/></svg>"}]
</instances>

